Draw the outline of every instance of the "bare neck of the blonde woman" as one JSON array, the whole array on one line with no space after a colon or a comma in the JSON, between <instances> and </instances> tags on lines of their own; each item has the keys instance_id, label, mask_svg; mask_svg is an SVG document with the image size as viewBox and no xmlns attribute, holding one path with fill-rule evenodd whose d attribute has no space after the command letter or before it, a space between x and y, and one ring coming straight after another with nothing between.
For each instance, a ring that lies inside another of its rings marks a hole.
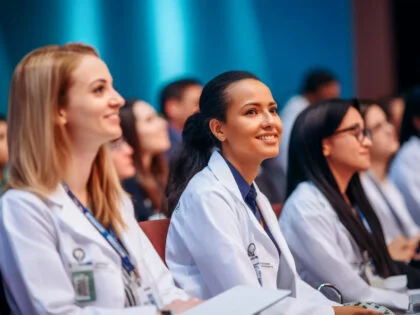
<instances>
[{"instance_id":1,"label":"bare neck of the blonde woman","mask_svg":"<svg viewBox=\"0 0 420 315\"><path fill-rule=\"evenodd\" d=\"M98 150L99 148L73 146L71 148L69 165L63 179L73 194L85 206L87 206L89 201L87 184Z\"/></svg>"}]
</instances>

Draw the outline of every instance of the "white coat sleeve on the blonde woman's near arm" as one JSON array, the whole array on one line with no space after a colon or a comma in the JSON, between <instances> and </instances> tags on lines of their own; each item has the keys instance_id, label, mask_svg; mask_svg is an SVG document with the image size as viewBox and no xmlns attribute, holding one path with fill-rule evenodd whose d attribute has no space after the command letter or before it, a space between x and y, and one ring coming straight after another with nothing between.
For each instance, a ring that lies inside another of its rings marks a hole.
<instances>
[{"instance_id":1,"label":"white coat sleeve on the blonde woman's near arm","mask_svg":"<svg viewBox=\"0 0 420 315\"><path fill-rule=\"evenodd\" d=\"M26 192L4 195L0 208L0 264L12 311L25 315L156 314L154 306L126 309L77 306L73 286L58 253L51 210Z\"/></svg>"}]
</instances>

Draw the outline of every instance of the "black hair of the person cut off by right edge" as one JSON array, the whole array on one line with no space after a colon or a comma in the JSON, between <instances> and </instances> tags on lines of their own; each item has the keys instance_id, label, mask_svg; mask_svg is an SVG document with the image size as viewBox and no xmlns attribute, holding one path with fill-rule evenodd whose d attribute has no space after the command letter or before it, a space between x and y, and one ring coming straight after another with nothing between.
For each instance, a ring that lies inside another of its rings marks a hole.
<instances>
[{"instance_id":1,"label":"black hair of the person cut off by right edge","mask_svg":"<svg viewBox=\"0 0 420 315\"><path fill-rule=\"evenodd\" d=\"M401 123L400 143L403 145L411 136L419 136L419 130L413 124L413 118L420 118L420 86L416 86L404 95L405 109Z\"/></svg>"}]
</instances>

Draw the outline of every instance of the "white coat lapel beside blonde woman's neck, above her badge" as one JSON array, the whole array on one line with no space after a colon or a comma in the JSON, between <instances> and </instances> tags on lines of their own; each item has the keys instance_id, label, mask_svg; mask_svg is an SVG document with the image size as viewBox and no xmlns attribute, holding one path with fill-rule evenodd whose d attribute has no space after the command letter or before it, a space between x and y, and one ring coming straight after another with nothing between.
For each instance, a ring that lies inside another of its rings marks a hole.
<instances>
[{"instance_id":1,"label":"white coat lapel beside blonde woman's neck, above her badge","mask_svg":"<svg viewBox=\"0 0 420 315\"><path fill-rule=\"evenodd\" d=\"M47 197L46 201L53 209L55 208L56 211L58 211L60 223L65 225L69 230L83 238L97 243L103 247L104 250L112 253L111 255L117 255L101 233L96 230L82 211L70 199L62 185L59 185L57 189Z\"/></svg>"}]
</instances>

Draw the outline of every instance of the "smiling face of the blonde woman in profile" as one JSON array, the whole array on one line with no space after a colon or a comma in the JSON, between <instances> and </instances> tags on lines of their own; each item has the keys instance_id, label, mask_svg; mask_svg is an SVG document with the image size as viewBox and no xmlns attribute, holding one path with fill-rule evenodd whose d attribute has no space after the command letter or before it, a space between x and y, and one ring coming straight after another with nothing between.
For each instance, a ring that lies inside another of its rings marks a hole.
<instances>
[{"instance_id":1,"label":"smiling face of the blonde woman in profile","mask_svg":"<svg viewBox=\"0 0 420 315\"><path fill-rule=\"evenodd\" d=\"M86 55L72 74L68 102L60 109L60 121L72 142L96 146L121 136L119 108L124 99L115 91L106 64Z\"/></svg>"}]
</instances>

